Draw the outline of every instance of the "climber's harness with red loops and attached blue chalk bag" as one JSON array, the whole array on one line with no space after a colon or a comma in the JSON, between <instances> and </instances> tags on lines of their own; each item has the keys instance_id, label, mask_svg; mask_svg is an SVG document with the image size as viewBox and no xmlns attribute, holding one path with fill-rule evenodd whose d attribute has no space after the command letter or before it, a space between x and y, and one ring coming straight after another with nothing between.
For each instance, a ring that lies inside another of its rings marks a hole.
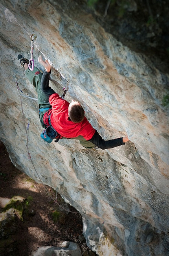
<instances>
[{"instance_id":1,"label":"climber's harness with red loops and attached blue chalk bag","mask_svg":"<svg viewBox=\"0 0 169 256\"><path fill-rule=\"evenodd\" d=\"M49 112L50 108L48 108L48 112ZM39 113L41 111L44 111L44 109L39 109ZM47 126L46 129L44 129L44 131L40 134L40 137L42 139L44 139L44 141L51 143L53 141L53 139L55 139L55 142L59 141L60 139L60 134L57 133L57 131L52 127L51 122L50 122L50 115L48 115L48 112L46 114L45 117L45 125ZM46 122L46 119L48 119L48 123Z\"/></svg>"}]
</instances>

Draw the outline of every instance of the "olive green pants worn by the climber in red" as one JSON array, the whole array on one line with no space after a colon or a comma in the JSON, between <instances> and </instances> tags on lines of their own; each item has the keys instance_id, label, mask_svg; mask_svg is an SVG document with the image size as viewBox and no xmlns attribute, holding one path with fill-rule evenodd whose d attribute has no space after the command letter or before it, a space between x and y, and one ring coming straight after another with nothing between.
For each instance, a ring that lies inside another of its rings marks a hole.
<instances>
[{"instance_id":1,"label":"olive green pants worn by the climber in red","mask_svg":"<svg viewBox=\"0 0 169 256\"><path fill-rule=\"evenodd\" d=\"M51 105L49 103L49 97L44 94L41 88L41 79L42 79L42 72L36 67L34 67L33 71L29 70L29 68L26 70L26 77L31 82L31 84L35 87L36 92L38 94L38 106L39 109L44 108L44 111L40 111L39 113L39 119L40 123L43 128L46 128L46 126L43 123L43 116L44 113L46 113L46 108L51 108ZM94 145L92 142L87 141L83 136L78 136L71 139L79 139L81 145L87 149L93 149L96 145Z\"/></svg>"}]
</instances>

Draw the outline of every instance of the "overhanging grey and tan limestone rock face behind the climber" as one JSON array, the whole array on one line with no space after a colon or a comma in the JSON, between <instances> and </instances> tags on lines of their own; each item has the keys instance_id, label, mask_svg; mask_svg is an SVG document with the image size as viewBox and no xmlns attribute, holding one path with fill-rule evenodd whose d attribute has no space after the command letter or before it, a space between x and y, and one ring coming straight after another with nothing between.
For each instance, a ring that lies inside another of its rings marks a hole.
<instances>
[{"instance_id":1,"label":"overhanging grey and tan limestone rock face behind the climber","mask_svg":"<svg viewBox=\"0 0 169 256\"><path fill-rule=\"evenodd\" d=\"M74 1L1 1L0 17L0 139L13 164L82 213L87 244L98 255L167 255L169 120L162 99L169 75ZM127 133L126 145L88 150L76 140L40 138L31 99L37 94L17 60L19 53L31 57L31 34L35 66L42 69L40 54L52 64L51 87L61 95L70 81L65 99L81 102L104 139Z\"/></svg>"}]
</instances>

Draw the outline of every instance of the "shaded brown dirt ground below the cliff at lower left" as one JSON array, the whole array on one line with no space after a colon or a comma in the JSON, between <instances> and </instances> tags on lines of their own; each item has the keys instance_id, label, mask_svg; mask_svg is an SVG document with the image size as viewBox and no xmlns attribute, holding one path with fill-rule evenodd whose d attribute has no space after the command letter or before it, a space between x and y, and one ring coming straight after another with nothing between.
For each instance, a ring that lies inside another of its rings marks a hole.
<instances>
[{"instance_id":1,"label":"shaded brown dirt ground below the cliff at lower left","mask_svg":"<svg viewBox=\"0 0 169 256\"><path fill-rule=\"evenodd\" d=\"M0 214L4 202L14 196L27 200L23 221L15 215L15 228L10 230L8 237L0 239L1 256L31 256L39 247L59 247L64 241L77 243L82 252L86 250L81 215L65 203L59 194L58 204L55 203L56 192L49 186L45 185L45 188L13 166L4 144L0 141Z\"/></svg>"}]
</instances>

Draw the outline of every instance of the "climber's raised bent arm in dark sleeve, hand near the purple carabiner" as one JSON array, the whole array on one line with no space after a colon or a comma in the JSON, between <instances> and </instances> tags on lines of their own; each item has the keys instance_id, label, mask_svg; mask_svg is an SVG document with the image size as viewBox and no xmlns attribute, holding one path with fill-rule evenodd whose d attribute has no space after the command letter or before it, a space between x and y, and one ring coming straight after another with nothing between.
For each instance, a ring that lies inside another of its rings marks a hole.
<instances>
[{"instance_id":1,"label":"climber's raised bent arm in dark sleeve, hand near the purple carabiner","mask_svg":"<svg viewBox=\"0 0 169 256\"><path fill-rule=\"evenodd\" d=\"M41 55L39 56L38 61L40 64L42 64L42 66L44 66L44 68L46 70L42 75L41 88L42 88L42 91L44 92L44 94L46 94L46 96L49 97L51 94L55 93L55 91L51 87L49 87L51 66L50 66L50 63L48 62L48 60L45 60L45 61L42 60Z\"/></svg>"}]
</instances>

